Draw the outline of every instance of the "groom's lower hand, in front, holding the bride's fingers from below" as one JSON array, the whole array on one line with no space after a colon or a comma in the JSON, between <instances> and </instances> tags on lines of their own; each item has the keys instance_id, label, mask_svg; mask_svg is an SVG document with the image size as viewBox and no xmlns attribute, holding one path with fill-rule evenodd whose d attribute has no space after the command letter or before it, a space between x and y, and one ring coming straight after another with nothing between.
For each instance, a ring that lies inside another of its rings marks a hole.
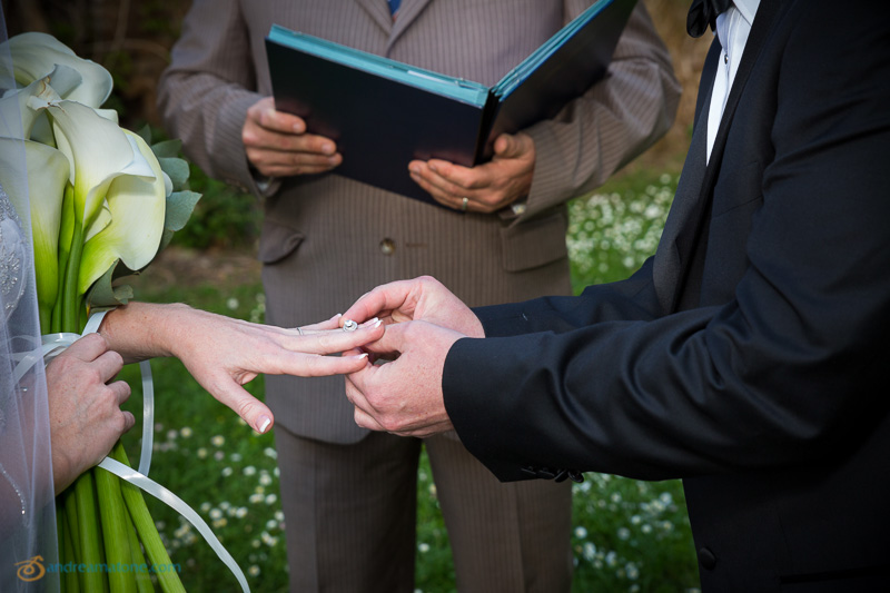
<instances>
[{"instance_id":1,"label":"groom's lower hand, in front, holding the bride's fingers from below","mask_svg":"<svg viewBox=\"0 0 890 593\"><path fill-rule=\"evenodd\" d=\"M346 397L363 428L400 436L429 436L454 427L442 395L442 369L452 345L463 334L424 322L387 327L364 349L397 354L383 365L366 365L346 376Z\"/></svg>"}]
</instances>

